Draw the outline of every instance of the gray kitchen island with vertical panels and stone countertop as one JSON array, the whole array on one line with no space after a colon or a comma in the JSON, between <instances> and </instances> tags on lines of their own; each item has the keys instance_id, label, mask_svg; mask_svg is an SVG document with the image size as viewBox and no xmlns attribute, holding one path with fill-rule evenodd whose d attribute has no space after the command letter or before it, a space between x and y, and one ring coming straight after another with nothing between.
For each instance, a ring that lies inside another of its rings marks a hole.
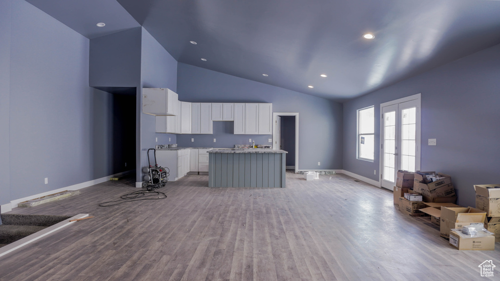
<instances>
[{"instance_id":1,"label":"gray kitchen island with vertical panels and stone countertop","mask_svg":"<svg viewBox=\"0 0 500 281\"><path fill-rule=\"evenodd\" d=\"M267 148L208 150L208 186L285 187L286 153Z\"/></svg>"}]
</instances>

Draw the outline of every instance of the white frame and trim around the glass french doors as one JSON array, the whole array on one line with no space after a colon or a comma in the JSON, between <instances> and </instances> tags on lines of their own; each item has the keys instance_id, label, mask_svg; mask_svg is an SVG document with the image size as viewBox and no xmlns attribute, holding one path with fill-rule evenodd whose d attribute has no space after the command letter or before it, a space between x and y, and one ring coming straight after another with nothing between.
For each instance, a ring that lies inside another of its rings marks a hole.
<instances>
[{"instance_id":1,"label":"white frame and trim around the glass french doors","mask_svg":"<svg viewBox=\"0 0 500 281\"><path fill-rule=\"evenodd\" d=\"M422 101L421 101L421 93L417 93L417 94L413 94L413 95L410 95L410 96L406 96L406 97L402 97L402 98L398 98L398 99L395 99L395 100L391 100L391 101L387 101L387 102L384 102L384 103L380 103L380 111L379 111L379 120L380 120L380 128L379 128L379 135L380 135L380 139L379 139L379 143L378 143L378 155L379 155L379 158L378 158L378 174L379 174L379 177L378 177L378 184L379 184L379 187L382 187L382 169L383 169L383 150L382 150L382 143L383 143L383 115L382 115L382 108L385 107L385 106L389 106L389 105L393 105L393 104L399 104L399 103L402 103L402 102L406 102L406 101L410 101L410 100L416 100L416 103L418 105L418 109L417 109L417 112L416 112L416 119L417 119L417 122L416 122L416 127L415 127L415 130L416 130L416 139L415 139L415 170L420 170L420 156L421 156L421 109L422 109ZM398 109L398 111L400 111ZM400 112L397 112L396 114L396 118L400 119ZM400 126L400 124L399 124ZM399 136L400 138L400 136ZM397 144L398 146L400 146L399 144ZM397 170L399 167L395 167L395 169ZM395 182L394 182L395 183ZM385 188L385 187L384 187Z\"/></svg>"}]
</instances>

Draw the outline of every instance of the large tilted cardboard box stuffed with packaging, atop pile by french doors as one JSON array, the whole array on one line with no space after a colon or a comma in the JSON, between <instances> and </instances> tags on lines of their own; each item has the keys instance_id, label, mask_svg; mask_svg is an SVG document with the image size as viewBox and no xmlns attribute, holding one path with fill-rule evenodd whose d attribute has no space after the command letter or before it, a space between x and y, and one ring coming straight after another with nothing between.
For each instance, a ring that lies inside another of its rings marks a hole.
<instances>
[{"instance_id":1,"label":"large tilted cardboard box stuffed with packaging, atop pile by french doors","mask_svg":"<svg viewBox=\"0 0 500 281\"><path fill-rule=\"evenodd\" d=\"M435 203L455 203L456 195L451 176L435 171L416 171L413 191L422 194L423 200Z\"/></svg>"}]
</instances>

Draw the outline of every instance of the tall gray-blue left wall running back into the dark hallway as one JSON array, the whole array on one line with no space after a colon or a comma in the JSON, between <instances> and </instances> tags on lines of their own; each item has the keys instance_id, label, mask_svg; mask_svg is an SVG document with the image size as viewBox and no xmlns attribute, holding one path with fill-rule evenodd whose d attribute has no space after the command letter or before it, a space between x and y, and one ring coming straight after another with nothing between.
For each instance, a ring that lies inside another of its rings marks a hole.
<instances>
[{"instance_id":1,"label":"tall gray-blue left wall running back into the dark hallway","mask_svg":"<svg viewBox=\"0 0 500 281\"><path fill-rule=\"evenodd\" d=\"M0 203L123 171L130 102L89 87L89 40L24 0L0 17Z\"/></svg>"}]
</instances>

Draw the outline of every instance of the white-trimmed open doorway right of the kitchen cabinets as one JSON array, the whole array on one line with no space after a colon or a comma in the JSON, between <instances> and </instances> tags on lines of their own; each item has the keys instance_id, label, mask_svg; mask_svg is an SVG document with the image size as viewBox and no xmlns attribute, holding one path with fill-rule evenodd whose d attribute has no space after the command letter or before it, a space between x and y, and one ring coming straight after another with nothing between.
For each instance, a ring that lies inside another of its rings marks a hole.
<instances>
[{"instance_id":1,"label":"white-trimmed open doorway right of the kitchen cabinets","mask_svg":"<svg viewBox=\"0 0 500 281\"><path fill-rule=\"evenodd\" d=\"M298 172L298 112L272 113L272 149L286 153L286 169Z\"/></svg>"}]
</instances>

